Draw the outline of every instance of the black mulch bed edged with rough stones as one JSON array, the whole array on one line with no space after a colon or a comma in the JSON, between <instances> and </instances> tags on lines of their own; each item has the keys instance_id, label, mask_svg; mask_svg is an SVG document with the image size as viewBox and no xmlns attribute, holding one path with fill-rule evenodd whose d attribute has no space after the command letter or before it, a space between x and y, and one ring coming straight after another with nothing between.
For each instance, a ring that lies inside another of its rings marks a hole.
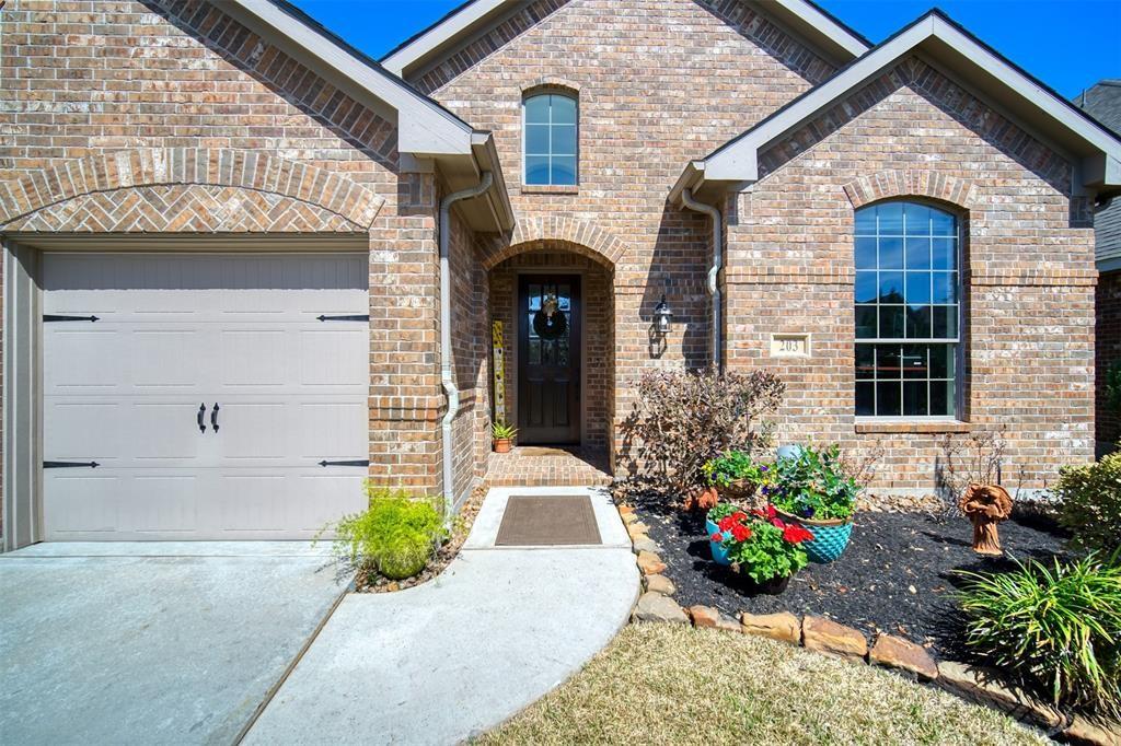
<instances>
[{"instance_id":1,"label":"black mulch bed edged with rough stones","mask_svg":"<svg viewBox=\"0 0 1121 746\"><path fill-rule=\"evenodd\" d=\"M860 513L844 554L830 565L798 572L779 596L751 596L739 576L712 561L704 516L643 505L636 511L661 545L665 575L684 607L712 606L724 614L791 612L832 618L868 634L886 632L951 654L956 616L949 598L956 570L1001 571L1006 558L983 558L970 548L964 517L923 513ZM1004 551L1020 559L1048 560L1064 538L1046 521L1015 517L1000 526Z\"/></svg>"}]
</instances>

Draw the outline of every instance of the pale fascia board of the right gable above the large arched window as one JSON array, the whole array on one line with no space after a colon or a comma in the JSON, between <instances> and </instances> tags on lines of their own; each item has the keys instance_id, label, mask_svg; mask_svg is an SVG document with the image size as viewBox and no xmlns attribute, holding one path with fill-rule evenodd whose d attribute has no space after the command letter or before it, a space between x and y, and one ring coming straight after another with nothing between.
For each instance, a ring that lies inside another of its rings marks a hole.
<instances>
[{"instance_id":1,"label":"pale fascia board of the right gable above the large arched window","mask_svg":"<svg viewBox=\"0 0 1121 746\"><path fill-rule=\"evenodd\" d=\"M1025 99L1074 138L1082 140L1086 157L1087 181L1103 186L1121 185L1121 141L1073 110L1030 77L1016 69L938 16L916 21L882 46L852 63L844 71L813 88L770 119L763 120L738 140L733 140L705 159L705 178L724 181L759 179L759 151L782 134L813 119L818 112L859 88L881 71L896 64L927 39L936 37L954 53L980 66L1001 85Z\"/></svg>"}]
</instances>

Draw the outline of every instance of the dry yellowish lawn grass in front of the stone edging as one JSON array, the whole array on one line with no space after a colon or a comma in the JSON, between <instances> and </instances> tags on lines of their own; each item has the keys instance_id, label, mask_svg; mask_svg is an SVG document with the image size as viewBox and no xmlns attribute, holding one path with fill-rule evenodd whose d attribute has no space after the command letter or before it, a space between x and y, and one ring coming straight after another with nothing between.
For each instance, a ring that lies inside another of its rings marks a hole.
<instances>
[{"instance_id":1,"label":"dry yellowish lawn grass in front of the stone edging","mask_svg":"<svg viewBox=\"0 0 1121 746\"><path fill-rule=\"evenodd\" d=\"M760 637L631 625L482 744L1044 744L887 671Z\"/></svg>"}]
</instances>

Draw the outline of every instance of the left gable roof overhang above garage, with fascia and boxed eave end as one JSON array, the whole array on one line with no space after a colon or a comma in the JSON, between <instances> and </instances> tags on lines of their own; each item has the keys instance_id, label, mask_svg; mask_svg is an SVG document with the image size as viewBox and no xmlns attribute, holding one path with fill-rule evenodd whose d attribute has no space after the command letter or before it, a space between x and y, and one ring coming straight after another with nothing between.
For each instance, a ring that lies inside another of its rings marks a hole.
<instances>
[{"instance_id":1,"label":"left gable roof overhang above garage, with fascia and boxed eave end","mask_svg":"<svg viewBox=\"0 0 1121 746\"><path fill-rule=\"evenodd\" d=\"M512 227L513 211L490 132L475 130L286 0L226 0L221 9L395 122L402 165L407 157L434 160L453 190L478 184L482 171L491 171L493 186L471 201L485 209L466 211L470 222L481 230Z\"/></svg>"}]
</instances>

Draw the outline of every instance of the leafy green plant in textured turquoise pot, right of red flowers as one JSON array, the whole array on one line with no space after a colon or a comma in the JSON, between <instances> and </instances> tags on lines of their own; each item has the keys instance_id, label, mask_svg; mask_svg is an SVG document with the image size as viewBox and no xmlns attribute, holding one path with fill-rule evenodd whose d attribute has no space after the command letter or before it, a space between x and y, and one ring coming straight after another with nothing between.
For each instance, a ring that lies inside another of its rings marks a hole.
<instances>
[{"instance_id":1,"label":"leafy green plant in textured turquoise pot, right of red flowers","mask_svg":"<svg viewBox=\"0 0 1121 746\"><path fill-rule=\"evenodd\" d=\"M839 446L805 447L775 461L775 484L767 491L780 519L808 529L805 550L812 562L841 557L852 538L860 485L845 473Z\"/></svg>"}]
</instances>

